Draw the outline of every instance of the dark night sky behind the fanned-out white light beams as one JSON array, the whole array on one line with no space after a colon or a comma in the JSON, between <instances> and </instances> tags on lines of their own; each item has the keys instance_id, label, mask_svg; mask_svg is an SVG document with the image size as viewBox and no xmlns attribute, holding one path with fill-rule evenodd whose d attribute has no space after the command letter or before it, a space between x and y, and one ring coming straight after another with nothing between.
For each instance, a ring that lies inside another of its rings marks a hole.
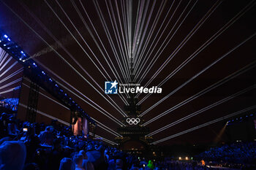
<instances>
[{"instance_id":1,"label":"dark night sky behind the fanned-out white light beams","mask_svg":"<svg viewBox=\"0 0 256 170\"><path fill-rule=\"evenodd\" d=\"M110 103L114 101L123 109L124 102L118 96L105 95L102 90L106 78L116 80L118 77L114 74L118 73L121 79L124 79L121 68L124 68L124 63L127 62L125 50L129 42L126 39L128 23L123 17L129 13L127 12L129 1L97 1L99 8L96 8L97 3L95 5L94 2L82 1L82 6L79 0L59 1L59 4L58 1L3 0L0 1L0 28L23 47L26 53L36 56L33 59L53 79L67 86L69 90L86 101L90 98L121 121L123 116ZM78 7L80 15L74 4ZM149 84L151 87L165 80L169 74L173 75L162 85L162 94L151 95L143 101L142 113L154 106L157 101L176 91L143 116L146 123L173 108L172 112L147 125L151 132L255 84L255 1L146 0L133 1L130 7L132 36L136 33L136 23L140 23L138 52L142 60L138 63L138 68L141 72L135 72L135 76L142 77L141 85L146 85L146 82L154 77L159 69L162 69ZM170 12L168 12L169 9ZM53 12L56 12L59 18ZM102 14L102 18L99 14ZM138 18L139 16L142 18ZM106 34L105 28L109 35ZM124 41L122 34L124 34ZM56 40L61 45L58 45ZM48 45L52 45L56 51L50 50ZM142 53L143 50L145 53ZM121 61L121 66L118 65L117 58ZM192 59L189 60L190 58ZM181 65L187 61L189 62L186 65ZM215 61L217 62L214 63ZM212 63L214 64L211 66ZM151 67L149 71L146 69L148 66ZM181 66L183 66L182 69L179 69ZM207 67L208 69L201 72ZM238 75L240 72L241 74ZM143 73L146 75L143 76ZM197 75L198 73L200 74ZM197 77L190 81L195 75ZM178 104L187 98L232 75L234 78L231 80L178 107ZM188 80L189 82L184 85ZM89 82L99 90L102 96L112 98L113 101L106 101L89 85ZM177 90L181 85L184 87ZM117 123L68 90L66 91L91 117L116 131ZM255 105L255 88L238 94L195 117L155 134L154 140L163 139ZM139 101L143 97L145 95L140 95ZM250 112L255 112L255 109L246 113ZM225 123L226 121L221 121L159 144L209 142L216 138ZM99 129L97 133L113 140L114 136L103 129Z\"/></svg>"}]
</instances>

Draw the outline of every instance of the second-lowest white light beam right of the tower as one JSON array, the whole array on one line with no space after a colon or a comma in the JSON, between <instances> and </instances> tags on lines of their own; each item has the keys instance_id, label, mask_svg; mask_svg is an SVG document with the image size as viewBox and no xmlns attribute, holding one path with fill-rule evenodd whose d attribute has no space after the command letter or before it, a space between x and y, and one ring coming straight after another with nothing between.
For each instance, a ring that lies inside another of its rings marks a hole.
<instances>
[{"instance_id":1,"label":"second-lowest white light beam right of the tower","mask_svg":"<svg viewBox=\"0 0 256 170\"><path fill-rule=\"evenodd\" d=\"M162 128L157 129L157 131L153 131L153 132L151 132L150 134L147 134L146 136L153 136L153 135L155 135L155 134L158 134L159 132L164 131L164 130L167 129L167 128L173 127L173 125L177 125L178 123L182 123L183 121L188 120L188 119L190 119L191 117L194 117L194 116L196 116L196 115L199 115L199 114L202 113L202 112L206 112L206 110L211 109L211 108L213 108L213 107L216 107L216 106L218 106L219 104L223 104L223 103L225 103L226 101L229 101L229 100L231 100L231 99L233 99L233 98L236 98L237 96L240 96L241 94L246 93L246 92L248 92L249 90L252 90L252 89L254 89L254 88L256 88L256 85L252 85L252 86L250 86L249 88L245 88L244 90L240 90L240 91L238 91L237 93L235 93L235 94L233 94L233 95L231 95L231 96L228 96L228 97L226 97L226 98L223 98L222 100L219 100L219 101L215 102L214 104L210 104L210 105L208 105L207 107L204 107L203 109L197 110L196 112L193 112L193 113L191 113L191 114L189 114L189 115L187 115L187 116L185 116L185 117L182 117L181 119L176 120L176 121L173 122L173 123L170 123L170 124L168 124L168 125L165 125L165 126L163 126ZM169 112L169 113L170 113L170 112Z\"/></svg>"}]
</instances>

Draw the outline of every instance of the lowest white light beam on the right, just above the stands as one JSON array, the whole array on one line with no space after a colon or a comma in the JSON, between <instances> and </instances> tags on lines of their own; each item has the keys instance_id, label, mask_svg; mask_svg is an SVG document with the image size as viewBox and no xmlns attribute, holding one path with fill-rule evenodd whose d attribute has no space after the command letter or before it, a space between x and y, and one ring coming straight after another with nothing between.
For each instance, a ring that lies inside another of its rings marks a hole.
<instances>
[{"instance_id":1,"label":"lowest white light beam on the right, just above the stands","mask_svg":"<svg viewBox=\"0 0 256 170\"><path fill-rule=\"evenodd\" d=\"M256 108L256 105L254 105L254 106L252 106L252 107L247 107L247 108L242 109L242 110L240 110L240 111L238 111L238 112L234 112L234 113L232 113L232 114L230 114L230 115L226 115L226 116L223 116L223 117L219 117L219 118L217 118L217 119L215 119L215 120L211 120L211 121L209 121L209 122L207 122L207 123L203 123L202 125L197 125L197 126L195 126L195 127L193 127L193 128L189 128L189 129L187 129L186 131L181 131L181 132L179 132L178 134L173 134L173 135L171 135L171 136L165 137L164 139L159 139L159 140L157 140L157 141L155 141L155 142L152 142L151 144L159 144L159 143L161 143L161 142L165 142L165 141L170 140L170 139L173 139L173 138L175 138L175 137L177 137L177 136L181 136L181 135L183 135L183 134L187 134L187 133L189 133L190 131L195 131L195 130L197 130L197 129L199 129L199 128L206 127L207 125L211 125L211 124L214 124L214 123L218 123L218 122L221 122L221 121L223 121L223 120L227 120L227 119L230 118L230 117L234 117L234 116L236 116L236 115L240 115L241 113L249 112L250 110L255 109L255 108Z\"/></svg>"}]
</instances>

